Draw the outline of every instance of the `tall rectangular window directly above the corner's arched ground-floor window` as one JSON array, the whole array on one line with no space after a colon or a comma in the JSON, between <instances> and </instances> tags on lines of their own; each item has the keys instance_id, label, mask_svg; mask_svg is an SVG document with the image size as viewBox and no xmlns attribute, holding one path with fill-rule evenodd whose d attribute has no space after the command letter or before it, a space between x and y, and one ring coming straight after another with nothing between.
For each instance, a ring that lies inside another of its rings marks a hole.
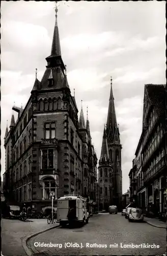
<instances>
[{"instance_id":1,"label":"tall rectangular window directly above the corner's arched ground-floor window","mask_svg":"<svg viewBox=\"0 0 167 256\"><path fill-rule=\"evenodd\" d=\"M42 169L53 168L53 150L42 150Z\"/></svg>"}]
</instances>

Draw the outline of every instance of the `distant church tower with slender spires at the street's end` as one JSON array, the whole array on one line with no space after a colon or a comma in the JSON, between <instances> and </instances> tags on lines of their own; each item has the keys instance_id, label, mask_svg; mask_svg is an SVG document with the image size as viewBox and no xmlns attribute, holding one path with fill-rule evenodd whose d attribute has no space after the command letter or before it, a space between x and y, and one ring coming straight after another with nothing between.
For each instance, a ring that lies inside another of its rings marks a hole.
<instances>
[{"instance_id":1,"label":"distant church tower with slender spires at the street's end","mask_svg":"<svg viewBox=\"0 0 167 256\"><path fill-rule=\"evenodd\" d=\"M100 193L100 199L104 200L104 204L107 205L117 205L118 209L122 208L122 170L121 170L121 150L122 145L120 144L120 133L117 124L115 104L114 104L114 95L113 95L113 84L112 78L111 87L110 87L110 96L109 96L109 106L108 106L108 116L107 116L107 124L106 131L104 129L103 133L103 141L102 141L102 150L101 150L101 158L99 161L99 171L102 173L101 169L103 164L105 163L105 169L110 169L112 165L112 172L109 172L110 175L110 197L105 199L105 195L108 193ZM103 160L103 161L102 161ZM104 161L105 160L105 161ZM100 174L99 172L99 174ZM104 171L104 176L105 176ZM101 175L100 175L101 176ZM99 176L99 177L100 177ZM104 177L103 176L103 177ZM99 182L99 186L101 180L104 180L103 183L107 179L101 179ZM106 186L105 186L106 187ZM100 188L101 189L101 188ZM105 188L106 191L106 188Z\"/></svg>"}]
</instances>

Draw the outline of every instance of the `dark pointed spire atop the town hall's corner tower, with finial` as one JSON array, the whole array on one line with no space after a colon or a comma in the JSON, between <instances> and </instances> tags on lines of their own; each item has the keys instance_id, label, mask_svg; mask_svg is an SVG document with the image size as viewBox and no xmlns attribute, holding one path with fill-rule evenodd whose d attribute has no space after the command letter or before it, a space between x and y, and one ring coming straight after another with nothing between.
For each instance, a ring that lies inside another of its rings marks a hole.
<instances>
[{"instance_id":1,"label":"dark pointed spire atop the town hall's corner tower, with finial","mask_svg":"<svg viewBox=\"0 0 167 256\"><path fill-rule=\"evenodd\" d=\"M53 39L52 39L52 46L51 46L51 55L61 56L61 48L60 48L60 38L59 38L59 29L58 29L58 6L57 1L55 2L55 25L54 25L54 32L53 32Z\"/></svg>"}]
</instances>

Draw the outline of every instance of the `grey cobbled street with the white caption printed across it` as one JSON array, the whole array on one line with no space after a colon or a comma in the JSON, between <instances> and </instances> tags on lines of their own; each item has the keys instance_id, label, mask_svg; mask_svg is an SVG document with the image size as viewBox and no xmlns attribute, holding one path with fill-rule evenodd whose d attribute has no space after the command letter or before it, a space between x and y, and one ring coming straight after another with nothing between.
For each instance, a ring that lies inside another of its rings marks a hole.
<instances>
[{"instance_id":1,"label":"grey cobbled street with the white caption printed across it","mask_svg":"<svg viewBox=\"0 0 167 256\"><path fill-rule=\"evenodd\" d=\"M127 248L141 244L159 248ZM91 218L84 227L58 227L39 234L27 242L27 247L32 255L162 255L166 250L166 230L129 222L120 213L106 213Z\"/></svg>"}]
</instances>

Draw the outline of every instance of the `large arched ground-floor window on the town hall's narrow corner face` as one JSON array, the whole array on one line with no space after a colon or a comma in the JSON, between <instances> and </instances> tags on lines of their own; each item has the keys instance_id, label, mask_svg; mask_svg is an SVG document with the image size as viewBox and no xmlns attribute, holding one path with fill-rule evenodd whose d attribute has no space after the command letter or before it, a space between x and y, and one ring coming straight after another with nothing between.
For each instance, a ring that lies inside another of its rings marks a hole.
<instances>
[{"instance_id":1,"label":"large arched ground-floor window on the town hall's narrow corner face","mask_svg":"<svg viewBox=\"0 0 167 256\"><path fill-rule=\"evenodd\" d=\"M45 178L43 180L43 198L44 199L51 199L50 193L54 191L55 197L57 198L57 185L55 184L54 179Z\"/></svg>"}]
</instances>

